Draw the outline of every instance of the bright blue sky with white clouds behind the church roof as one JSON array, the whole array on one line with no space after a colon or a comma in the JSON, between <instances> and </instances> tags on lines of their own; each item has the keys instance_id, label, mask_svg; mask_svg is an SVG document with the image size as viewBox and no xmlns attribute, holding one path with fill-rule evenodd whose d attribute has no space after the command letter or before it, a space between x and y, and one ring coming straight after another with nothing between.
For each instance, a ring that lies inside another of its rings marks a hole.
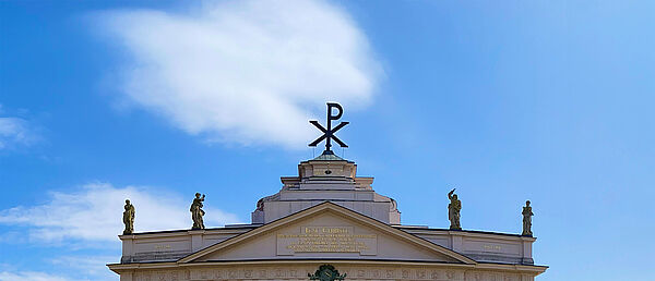
<instances>
[{"instance_id":1,"label":"bright blue sky with white clouds behind the church roof","mask_svg":"<svg viewBox=\"0 0 655 281\"><path fill-rule=\"evenodd\" d=\"M337 154L404 224L517 233L537 280L654 280L653 1L2 1L0 280L118 280L136 231L249 222ZM323 121L322 121L323 122ZM320 150L317 149L317 154ZM162 217L168 218L162 220ZM189 225L187 225L189 224Z\"/></svg>"}]
</instances>

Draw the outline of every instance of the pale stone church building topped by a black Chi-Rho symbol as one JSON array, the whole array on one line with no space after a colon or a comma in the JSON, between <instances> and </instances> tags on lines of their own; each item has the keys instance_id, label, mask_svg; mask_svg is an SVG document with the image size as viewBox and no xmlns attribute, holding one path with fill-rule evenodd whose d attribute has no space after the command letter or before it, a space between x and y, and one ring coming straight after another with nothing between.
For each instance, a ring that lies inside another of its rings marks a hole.
<instances>
[{"instance_id":1,"label":"pale stone church building topped by a black Chi-Rho symbol","mask_svg":"<svg viewBox=\"0 0 655 281\"><path fill-rule=\"evenodd\" d=\"M534 264L536 239L525 229L468 231L453 228L452 220L451 229L403 225L398 204L376 193L373 178L357 176L357 164L330 149L330 140L345 146L333 133L347 124L332 129L343 110L331 105L338 114L329 105L325 135L312 143L325 140L325 151L301 161L297 175L283 176L282 190L257 203L251 223L128 231L119 235L121 260L109 269L121 281L529 281L546 271ZM202 199L194 200L198 208Z\"/></svg>"}]
</instances>

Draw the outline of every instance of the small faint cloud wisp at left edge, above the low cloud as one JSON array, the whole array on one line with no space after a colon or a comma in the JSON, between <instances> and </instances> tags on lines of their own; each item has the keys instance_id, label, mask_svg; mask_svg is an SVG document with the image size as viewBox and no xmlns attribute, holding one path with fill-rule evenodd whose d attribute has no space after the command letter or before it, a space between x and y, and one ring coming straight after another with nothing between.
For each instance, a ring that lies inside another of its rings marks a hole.
<instances>
[{"instance_id":1,"label":"small faint cloud wisp at left edge, above the low cloud","mask_svg":"<svg viewBox=\"0 0 655 281\"><path fill-rule=\"evenodd\" d=\"M0 149L15 145L32 145L38 136L29 129L29 123L21 118L0 118Z\"/></svg>"}]
</instances>

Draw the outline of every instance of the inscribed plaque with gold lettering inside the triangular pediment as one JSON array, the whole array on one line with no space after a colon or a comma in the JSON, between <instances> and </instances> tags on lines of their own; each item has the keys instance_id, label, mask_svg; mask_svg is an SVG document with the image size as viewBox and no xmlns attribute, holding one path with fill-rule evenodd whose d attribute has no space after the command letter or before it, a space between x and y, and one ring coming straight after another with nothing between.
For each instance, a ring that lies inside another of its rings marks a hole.
<instances>
[{"instance_id":1,"label":"inscribed plaque with gold lettering inside the triangular pediment","mask_svg":"<svg viewBox=\"0 0 655 281\"><path fill-rule=\"evenodd\" d=\"M378 255L378 235L354 233L353 227L301 227L299 233L277 233L277 255L358 253Z\"/></svg>"}]
</instances>

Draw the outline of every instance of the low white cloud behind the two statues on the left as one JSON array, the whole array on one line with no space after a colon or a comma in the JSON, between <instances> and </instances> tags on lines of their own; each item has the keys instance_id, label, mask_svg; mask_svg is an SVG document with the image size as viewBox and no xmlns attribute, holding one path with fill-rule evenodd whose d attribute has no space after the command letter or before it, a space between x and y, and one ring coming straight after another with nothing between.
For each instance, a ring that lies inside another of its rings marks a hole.
<instances>
[{"instance_id":1,"label":"low white cloud behind the two statues on the left","mask_svg":"<svg viewBox=\"0 0 655 281\"><path fill-rule=\"evenodd\" d=\"M0 223L26 225L32 239L60 242L69 239L118 241L122 233L124 199L135 207L134 231L189 229L189 205L193 195L146 187L114 187L106 183L84 185L73 193L51 193L50 199L37 206L19 206L0 211ZM211 207L205 208L205 225L217 227L239 222L237 216ZM165 218L165 219L164 219Z\"/></svg>"}]
</instances>

